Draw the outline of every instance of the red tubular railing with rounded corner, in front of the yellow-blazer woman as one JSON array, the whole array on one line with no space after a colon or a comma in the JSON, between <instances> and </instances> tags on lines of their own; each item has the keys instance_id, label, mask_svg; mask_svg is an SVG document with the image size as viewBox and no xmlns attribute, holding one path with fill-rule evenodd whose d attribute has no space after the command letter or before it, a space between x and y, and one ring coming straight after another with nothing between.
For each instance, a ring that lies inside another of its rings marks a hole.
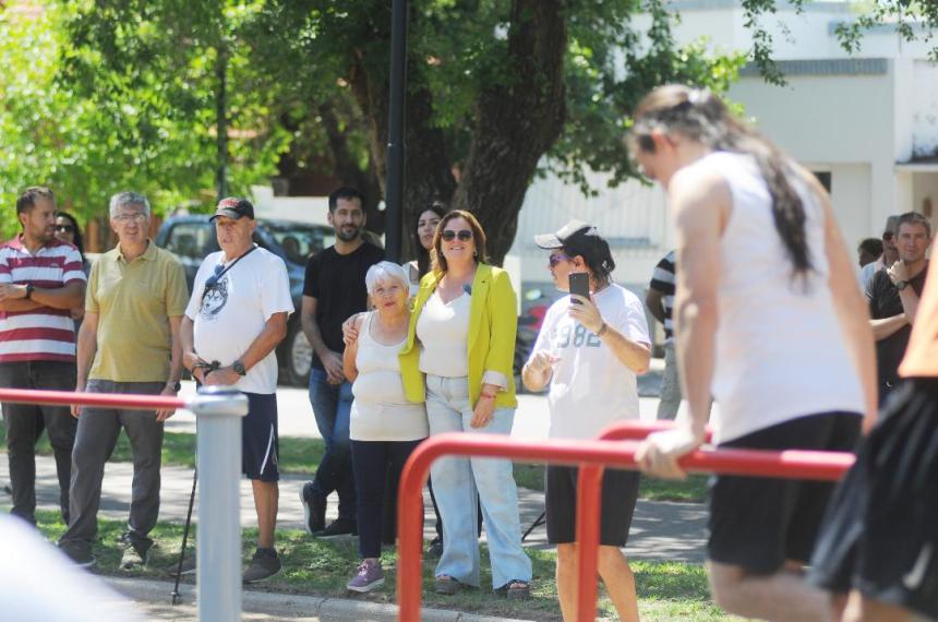
<instances>
[{"instance_id":1,"label":"red tubular railing with rounded corner, in front of the yellow-blazer woman","mask_svg":"<svg viewBox=\"0 0 938 622\"><path fill-rule=\"evenodd\" d=\"M518 441L509 436L460 433L440 434L421 443L407 460L400 478L397 505L400 547L397 579L397 598L400 606L398 619L404 622L420 620L423 485L426 482L426 475L433 460L445 455L471 455L570 466L604 465L635 468L637 448L638 443L635 441ZM850 468L853 459L853 454L829 452L719 450L693 452L682 458L681 465L692 473L838 479ZM596 492L593 506L599 507L600 495L598 490ZM578 507L578 519L581 518L582 512L584 510ZM598 512L594 514L599 515ZM592 525L590 541L596 543L599 540L599 523L598 521L590 523ZM589 529L589 525L586 525L586 528ZM590 535L587 534L587 536ZM582 541L580 547L587 548ZM596 549L597 545L593 545L593 564L596 564ZM582 581L582 575L586 573L580 574ZM591 582L590 589L580 588L578 594L577 619L581 622L596 617L596 573L588 576ZM592 594L592 598L584 598L588 591Z\"/></svg>"}]
</instances>

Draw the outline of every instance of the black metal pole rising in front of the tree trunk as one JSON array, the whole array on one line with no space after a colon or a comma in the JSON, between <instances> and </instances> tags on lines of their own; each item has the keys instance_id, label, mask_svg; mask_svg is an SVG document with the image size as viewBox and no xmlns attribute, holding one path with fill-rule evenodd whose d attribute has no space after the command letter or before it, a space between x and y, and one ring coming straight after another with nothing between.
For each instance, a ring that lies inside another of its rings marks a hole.
<instances>
[{"instance_id":1,"label":"black metal pole rising in front of the tree trunk","mask_svg":"<svg viewBox=\"0 0 938 622\"><path fill-rule=\"evenodd\" d=\"M400 263L404 220L405 87L407 85L407 0L394 0L390 16L390 101L385 183L385 255Z\"/></svg>"}]
</instances>

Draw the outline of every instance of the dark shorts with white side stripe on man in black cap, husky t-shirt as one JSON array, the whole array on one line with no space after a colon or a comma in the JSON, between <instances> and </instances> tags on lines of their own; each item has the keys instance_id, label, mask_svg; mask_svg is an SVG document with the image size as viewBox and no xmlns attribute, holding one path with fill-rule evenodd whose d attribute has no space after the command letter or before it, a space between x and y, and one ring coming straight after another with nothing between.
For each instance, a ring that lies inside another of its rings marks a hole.
<instances>
[{"instance_id":1,"label":"dark shorts with white side stripe on man in black cap, husky t-shirt","mask_svg":"<svg viewBox=\"0 0 938 622\"><path fill-rule=\"evenodd\" d=\"M280 479L277 396L245 393L248 415L241 420L241 471L248 479Z\"/></svg>"}]
</instances>

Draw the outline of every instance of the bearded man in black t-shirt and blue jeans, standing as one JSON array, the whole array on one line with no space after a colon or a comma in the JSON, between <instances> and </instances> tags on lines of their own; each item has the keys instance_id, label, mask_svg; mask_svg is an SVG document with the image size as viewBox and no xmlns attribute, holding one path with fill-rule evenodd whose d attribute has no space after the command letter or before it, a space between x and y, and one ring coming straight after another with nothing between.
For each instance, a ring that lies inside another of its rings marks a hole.
<instances>
[{"instance_id":1,"label":"bearded man in black t-shirt and blue jeans, standing","mask_svg":"<svg viewBox=\"0 0 938 622\"><path fill-rule=\"evenodd\" d=\"M313 346L310 402L326 453L313 481L303 486L300 498L305 527L317 536L356 533L356 494L349 448L351 383L342 372L342 322L364 311L368 268L384 259L384 251L362 239L364 198L353 188L329 194L329 224L336 243L310 258L303 284L301 321ZM325 526L326 498L339 495L339 516Z\"/></svg>"}]
</instances>

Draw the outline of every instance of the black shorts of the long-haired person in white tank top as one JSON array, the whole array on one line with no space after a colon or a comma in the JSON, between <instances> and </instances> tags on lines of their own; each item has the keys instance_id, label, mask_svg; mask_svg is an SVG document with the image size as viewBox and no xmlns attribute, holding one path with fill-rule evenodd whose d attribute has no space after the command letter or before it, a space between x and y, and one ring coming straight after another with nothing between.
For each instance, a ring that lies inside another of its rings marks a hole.
<instances>
[{"instance_id":1,"label":"black shorts of the long-haired person in white tank top","mask_svg":"<svg viewBox=\"0 0 938 622\"><path fill-rule=\"evenodd\" d=\"M720 444L753 450L851 452L861 416L823 412L792 419ZM772 574L785 560L807 562L834 483L715 476L710 485L708 558L753 574Z\"/></svg>"}]
</instances>

